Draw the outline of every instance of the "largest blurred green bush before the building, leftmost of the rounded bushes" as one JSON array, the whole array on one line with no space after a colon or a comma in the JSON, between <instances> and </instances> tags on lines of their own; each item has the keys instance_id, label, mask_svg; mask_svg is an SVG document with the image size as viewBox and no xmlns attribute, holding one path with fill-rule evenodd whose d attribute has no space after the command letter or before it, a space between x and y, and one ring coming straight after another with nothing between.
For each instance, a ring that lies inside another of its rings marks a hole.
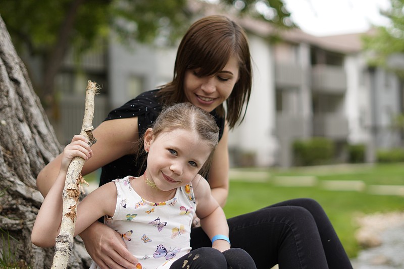
<instances>
[{"instance_id":1,"label":"largest blurred green bush before the building, leftmost of the rounded bushes","mask_svg":"<svg viewBox=\"0 0 404 269\"><path fill-rule=\"evenodd\" d=\"M333 141L324 137L295 140L292 147L296 166L329 164L335 154Z\"/></svg>"}]
</instances>

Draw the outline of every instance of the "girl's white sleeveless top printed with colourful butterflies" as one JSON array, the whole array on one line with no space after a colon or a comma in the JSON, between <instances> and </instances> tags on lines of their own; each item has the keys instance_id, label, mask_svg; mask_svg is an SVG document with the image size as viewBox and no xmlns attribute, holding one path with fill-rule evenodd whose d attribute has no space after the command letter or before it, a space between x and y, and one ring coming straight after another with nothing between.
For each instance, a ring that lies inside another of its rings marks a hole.
<instances>
[{"instance_id":1,"label":"girl's white sleeveless top printed with colourful butterflies","mask_svg":"<svg viewBox=\"0 0 404 269\"><path fill-rule=\"evenodd\" d=\"M190 231L196 209L192 185L177 188L169 201L152 202L135 192L130 179L135 178L114 180L115 213L104 221L121 234L128 250L139 259L139 268L169 268L191 250Z\"/></svg>"}]
</instances>

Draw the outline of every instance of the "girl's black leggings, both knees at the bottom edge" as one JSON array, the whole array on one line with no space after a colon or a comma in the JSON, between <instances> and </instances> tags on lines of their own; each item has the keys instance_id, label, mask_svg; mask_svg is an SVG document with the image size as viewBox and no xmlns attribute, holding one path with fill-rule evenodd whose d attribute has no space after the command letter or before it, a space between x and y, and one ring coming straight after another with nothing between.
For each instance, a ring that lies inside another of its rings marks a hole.
<instances>
[{"instance_id":1,"label":"girl's black leggings, both knees at the bottom edge","mask_svg":"<svg viewBox=\"0 0 404 269\"><path fill-rule=\"evenodd\" d=\"M254 260L240 248L220 252L212 247L194 249L173 262L170 269L256 269Z\"/></svg>"}]
</instances>

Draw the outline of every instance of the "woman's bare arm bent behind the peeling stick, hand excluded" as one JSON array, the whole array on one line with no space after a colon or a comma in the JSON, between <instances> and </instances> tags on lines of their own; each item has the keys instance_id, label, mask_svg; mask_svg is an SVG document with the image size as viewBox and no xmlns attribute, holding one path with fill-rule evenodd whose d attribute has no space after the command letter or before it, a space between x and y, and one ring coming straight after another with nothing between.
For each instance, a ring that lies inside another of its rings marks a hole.
<instances>
[{"instance_id":1,"label":"woman's bare arm bent behind the peeling stick, hand excluded","mask_svg":"<svg viewBox=\"0 0 404 269\"><path fill-rule=\"evenodd\" d=\"M137 117L105 121L93 131L93 135L97 139L91 147L94 156L85 162L81 172L83 176L123 155L136 152L139 141ZM43 197L47 195L55 182L61 159L62 154L47 164L36 178L36 186Z\"/></svg>"}]
</instances>

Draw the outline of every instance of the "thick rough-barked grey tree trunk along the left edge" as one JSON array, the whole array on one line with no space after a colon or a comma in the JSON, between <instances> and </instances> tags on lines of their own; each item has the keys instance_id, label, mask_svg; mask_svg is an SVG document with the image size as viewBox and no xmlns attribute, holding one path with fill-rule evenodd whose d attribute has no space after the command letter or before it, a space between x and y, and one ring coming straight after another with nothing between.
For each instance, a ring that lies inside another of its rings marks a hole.
<instances>
[{"instance_id":1,"label":"thick rough-barked grey tree trunk along the left edge","mask_svg":"<svg viewBox=\"0 0 404 269\"><path fill-rule=\"evenodd\" d=\"M43 200L35 179L61 150L0 17L0 266L51 267L54 249L31 243ZM87 268L90 262L77 239L69 267Z\"/></svg>"}]
</instances>

